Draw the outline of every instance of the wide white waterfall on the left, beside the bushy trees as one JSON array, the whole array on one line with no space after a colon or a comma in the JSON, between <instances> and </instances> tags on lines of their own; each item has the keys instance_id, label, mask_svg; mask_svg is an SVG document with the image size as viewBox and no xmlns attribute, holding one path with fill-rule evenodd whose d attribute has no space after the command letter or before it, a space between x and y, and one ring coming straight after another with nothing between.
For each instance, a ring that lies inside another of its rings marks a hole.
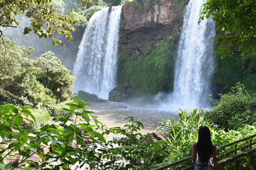
<instances>
[{"instance_id":1,"label":"wide white waterfall on the left, beside the bushy trees","mask_svg":"<svg viewBox=\"0 0 256 170\"><path fill-rule=\"evenodd\" d=\"M107 99L115 87L121 11L122 6L103 8L90 18L73 69L75 92L83 90Z\"/></svg>"}]
</instances>

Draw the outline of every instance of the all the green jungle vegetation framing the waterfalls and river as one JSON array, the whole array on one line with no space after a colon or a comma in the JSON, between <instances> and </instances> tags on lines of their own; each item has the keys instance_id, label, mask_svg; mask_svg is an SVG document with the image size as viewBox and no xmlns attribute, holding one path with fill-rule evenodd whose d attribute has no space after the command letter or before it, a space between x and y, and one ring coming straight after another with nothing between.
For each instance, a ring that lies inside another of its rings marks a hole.
<instances>
[{"instance_id":1,"label":"all the green jungle vegetation framing the waterfalls and river","mask_svg":"<svg viewBox=\"0 0 256 170\"><path fill-rule=\"evenodd\" d=\"M63 12L64 16L55 13L48 2L51 1L0 0L0 169L72 169L82 166L88 169L154 169L190 156L201 125L208 125L213 143L217 146L255 135L256 54L253 33L256 27L252 28L255 26L252 0L206 2L207 8L203 14L206 17L208 13L213 14L217 23L220 18L218 28L222 30L221 38L216 39L216 42L220 40L220 55L214 81L222 86L225 93L221 90L219 99L213 99L215 106L210 111L199 108L193 111L181 110L177 113L178 121L174 118L163 120L159 132L166 135L167 139L161 141L155 141L151 135L142 135L139 130L144 125L132 117L127 118L129 124L123 128L105 128L92 111L86 110L89 104L79 98L69 101L74 77L53 52L46 52L32 60L32 47L20 46L4 36L2 28L19 26L16 17L23 14L31 18L31 26L25 27L24 33L34 31L41 38L53 38L53 44L58 41L54 33L72 38L70 30L74 29L73 24L78 23L78 20L74 15L65 16L67 11L61 6L58 13ZM111 2L114 1L105 3ZM224 14L224 18L218 17ZM233 14L238 18L233 20ZM244 21L247 25L240 24L242 17L247 16L249 19ZM232 25L234 27L230 27ZM221 46L222 43L224 46ZM238 50L231 51L231 57L222 59L223 53L230 54L230 45L233 43L238 45ZM171 47L169 42L163 41L156 45L148 58L139 58L139 63L147 72L163 72L149 79L164 79L164 73L169 72L165 61L171 60L164 52L169 53ZM163 56L166 58L161 58ZM124 56L124 60L127 62L127 65L122 63L124 68L127 67L126 77L131 77L129 67L133 68L136 64L127 56ZM172 67L172 62L168 64ZM234 72L238 74L232 74ZM134 77L130 79L136 83ZM238 81L241 83L236 84ZM169 79L162 82L170 86ZM150 88L147 87L143 92L154 91L154 88ZM53 124L47 123L50 115L59 115ZM82 123L78 123L78 120ZM58 123L62 125L56 125ZM99 129L100 132L97 131ZM126 140L106 141L103 135L110 133L124 135ZM48 152L44 151L46 148ZM14 155L21 156L20 161L7 164L7 160ZM35 155L40 157L40 164L29 159ZM53 165L54 162L58 164ZM180 164L174 169L186 165Z\"/></svg>"}]
</instances>

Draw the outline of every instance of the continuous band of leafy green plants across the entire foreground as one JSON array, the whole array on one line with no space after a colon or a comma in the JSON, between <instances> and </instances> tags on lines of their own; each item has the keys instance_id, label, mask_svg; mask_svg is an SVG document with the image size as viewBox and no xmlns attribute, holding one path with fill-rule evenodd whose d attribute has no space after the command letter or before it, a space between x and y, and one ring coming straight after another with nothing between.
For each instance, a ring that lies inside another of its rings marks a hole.
<instances>
[{"instance_id":1,"label":"continuous band of leafy green plants across the entire foreground","mask_svg":"<svg viewBox=\"0 0 256 170\"><path fill-rule=\"evenodd\" d=\"M164 120L161 132L169 135L166 141L154 142L150 135L142 135L139 130L144 125L132 117L124 128L105 130L91 111L89 105L80 98L67 103L69 108L56 120L59 125L44 125L38 130L23 129L23 120L36 122L31 108L11 104L0 107L0 150L1 169L154 169L191 156L193 142L198 138L198 128L207 125L210 128L212 141L217 147L226 145L256 133L256 124L245 125L238 130L219 130L203 118L203 109L194 109L192 113L180 111L178 121L174 118ZM102 129L103 133L97 132ZM124 136L124 140L106 142L103 134L113 132ZM90 141L90 144L86 141ZM248 141L240 142L238 147L247 145ZM233 147L233 146L232 146ZM220 154L233 149L221 149ZM46 148L50 149L48 152ZM6 159L14 155L23 156L18 164L6 164ZM38 155L37 164L29 158ZM223 157L225 158L225 157ZM56 164L58 162L58 164ZM53 163L55 163L53 165ZM190 163L178 164L171 169L181 169ZM232 165L230 165L232 166Z\"/></svg>"}]
</instances>

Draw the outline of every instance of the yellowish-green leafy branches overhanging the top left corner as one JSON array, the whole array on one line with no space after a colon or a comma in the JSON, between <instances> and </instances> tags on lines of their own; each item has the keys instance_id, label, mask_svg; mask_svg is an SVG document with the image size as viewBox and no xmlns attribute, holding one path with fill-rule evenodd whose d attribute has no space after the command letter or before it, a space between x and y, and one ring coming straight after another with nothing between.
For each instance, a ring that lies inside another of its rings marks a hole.
<instances>
[{"instance_id":1,"label":"yellowish-green leafy branches overhanging the top left corner","mask_svg":"<svg viewBox=\"0 0 256 170\"><path fill-rule=\"evenodd\" d=\"M24 34L33 32L39 38L53 38L55 34L62 34L67 40L72 40L73 24L78 23L73 13L59 15L50 3L53 0L0 0L0 39L4 37L4 28L21 26L18 16L30 18L31 26L25 27ZM90 0L82 0L83 4ZM64 45L63 41L53 38L53 44Z\"/></svg>"}]
</instances>

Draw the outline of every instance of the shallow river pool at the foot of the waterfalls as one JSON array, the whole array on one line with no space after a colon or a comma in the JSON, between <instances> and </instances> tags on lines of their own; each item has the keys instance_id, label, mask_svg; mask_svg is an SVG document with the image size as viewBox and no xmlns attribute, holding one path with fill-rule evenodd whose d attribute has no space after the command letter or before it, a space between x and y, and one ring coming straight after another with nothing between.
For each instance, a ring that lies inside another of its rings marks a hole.
<instances>
[{"instance_id":1,"label":"shallow river pool at the foot of the waterfalls","mask_svg":"<svg viewBox=\"0 0 256 170\"><path fill-rule=\"evenodd\" d=\"M178 118L174 112L163 111L152 104L145 103L118 103L118 102L90 102L92 106L87 106L88 111L93 111L97 120L106 125L107 128L123 127L129 123L125 118L132 116L134 119L144 124L142 134L147 132L156 132L161 125L162 118L169 119Z\"/></svg>"}]
</instances>

